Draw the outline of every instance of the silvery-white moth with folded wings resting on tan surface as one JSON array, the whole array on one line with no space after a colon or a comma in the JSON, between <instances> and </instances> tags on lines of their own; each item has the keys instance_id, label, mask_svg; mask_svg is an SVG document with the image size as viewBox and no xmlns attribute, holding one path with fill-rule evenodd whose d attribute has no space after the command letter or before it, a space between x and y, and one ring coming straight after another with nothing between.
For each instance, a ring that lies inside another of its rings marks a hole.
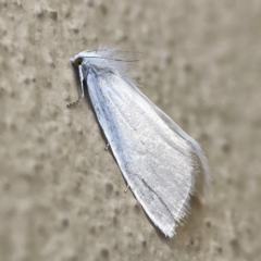
<instances>
[{"instance_id":1,"label":"silvery-white moth with folded wings resting on tan surface","mask_svg":"<svg viewBox=\"0 0 261 261\"><path fill-rule=\"evenodd\" d=\"M162 233L172 237L194 192L195 157L209 167L197 141L125 76L116 50L83 51L71 59L82 96L87 89L108 145L135 197ZM85 87L87 87L85 89Z\"/></svg>"}]
</instances>

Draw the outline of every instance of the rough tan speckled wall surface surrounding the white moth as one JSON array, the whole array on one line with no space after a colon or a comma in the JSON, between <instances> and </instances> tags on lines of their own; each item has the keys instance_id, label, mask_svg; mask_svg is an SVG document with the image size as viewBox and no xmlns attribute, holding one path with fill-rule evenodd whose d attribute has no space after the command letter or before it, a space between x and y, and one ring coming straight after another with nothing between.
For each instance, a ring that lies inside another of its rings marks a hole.
<instances>
[{"instance_id":1,"label":"rough tan speckled wall surface surrounding the white moth","mask_svg":"<svg viewBox=\"0 0 261 261\"><path fill-rule=\"evenodd\" d=\"M0 257L10 261L261 259L259 1L0 0ZM212 187L172 239L149 222L70 58L144 52L141 90L201 145Z\"/></svg>"}]
</instances>

